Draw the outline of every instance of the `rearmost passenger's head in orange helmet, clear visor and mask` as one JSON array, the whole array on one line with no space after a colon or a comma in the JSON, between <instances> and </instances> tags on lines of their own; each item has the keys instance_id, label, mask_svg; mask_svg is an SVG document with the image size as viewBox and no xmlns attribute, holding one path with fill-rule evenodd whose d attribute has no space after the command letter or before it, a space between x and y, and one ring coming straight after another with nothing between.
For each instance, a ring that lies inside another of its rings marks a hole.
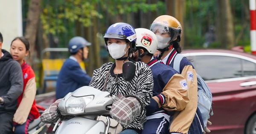
<instances>
[{"instance_id":1,"label":"rearmost passenger's head in orange helmet, clear visor and mask","mask_svg":"<svg viewBox=\"0 0 256 134\"><path fill-rule=\"evenodd\" d=\"M157 17L150 26L150 30L157 34L159 41L158 49L169 46L174 40L180 41L182 36L182 27L180 22L172 16L161 15ZM166 36L168 34L169 36Z\"/></svg>"}]
</instances>

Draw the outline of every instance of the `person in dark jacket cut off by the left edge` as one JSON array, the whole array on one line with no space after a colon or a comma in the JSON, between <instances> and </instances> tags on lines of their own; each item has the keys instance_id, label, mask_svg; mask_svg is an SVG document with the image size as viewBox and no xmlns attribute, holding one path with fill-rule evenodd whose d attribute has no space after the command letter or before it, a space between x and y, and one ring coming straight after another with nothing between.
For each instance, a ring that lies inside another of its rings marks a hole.
<instances>
[{"instance_id":1,"label":"person in dark jacket cut off by the left edge","mask_svg":"<svg viewBox=\"0 0 256 134\"><path fill-rule=\"evenodd\" d=\"M3 36L0 33L0 134L12 134L12 120L17 98L22 93L23 75L20 64L2 46Z\"/></svg>"}]
</instances>

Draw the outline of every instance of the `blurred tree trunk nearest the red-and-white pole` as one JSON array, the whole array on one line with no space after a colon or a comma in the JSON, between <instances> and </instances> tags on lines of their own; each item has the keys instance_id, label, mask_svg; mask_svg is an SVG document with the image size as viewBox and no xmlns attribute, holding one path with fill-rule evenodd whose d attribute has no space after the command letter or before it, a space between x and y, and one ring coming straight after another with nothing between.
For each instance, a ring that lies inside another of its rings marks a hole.
<instances>
[{"instance_id":1,"label":"blurred tree trunk nearest the red-and-white pole","mask_svg":"<svg viewBox=\"0 0 256 134\"><path fill-rule=\"evenodd\" d=\"M222 32L221 32L222 31ZM230 0L218 0L218 40L221 48L232 48L235 43Z\"/></svg>"}]
</instances>

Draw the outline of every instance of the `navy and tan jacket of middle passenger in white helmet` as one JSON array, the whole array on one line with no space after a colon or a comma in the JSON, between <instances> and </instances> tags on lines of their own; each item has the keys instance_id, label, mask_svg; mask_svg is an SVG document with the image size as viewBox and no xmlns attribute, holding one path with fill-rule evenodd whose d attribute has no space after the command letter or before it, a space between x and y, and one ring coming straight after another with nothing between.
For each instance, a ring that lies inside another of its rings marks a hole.
<instances>
[{"instance_id":1,"label":"navy and tan jacket of middle passenger in white helmet","mask_svg":"<svg viewBox=\"0 0 256 134\"><path fill-rule=\"evenodd\" d=\"M160 103L158 107L160 108L157 107L154 113L149 115L147 119L165 117L166 120L169 120L169 116L166 116L166 111L181 111L189 102L186 79L175 71L174 68L159 63L157 59L152 59L148 66L153 74L153 96L159 98ZM155 108L155 106L153 103L150 103L146 109L148 110L148 108Z\"/></svg>"}]
</instances>

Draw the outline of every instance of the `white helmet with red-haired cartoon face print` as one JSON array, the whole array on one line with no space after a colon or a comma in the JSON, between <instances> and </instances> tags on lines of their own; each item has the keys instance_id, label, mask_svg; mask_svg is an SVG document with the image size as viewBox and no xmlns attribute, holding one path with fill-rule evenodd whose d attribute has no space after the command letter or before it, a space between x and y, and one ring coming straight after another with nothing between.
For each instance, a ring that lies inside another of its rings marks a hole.
<instances>
[{"instance_id":1,"label":"white helmet with red-haired cartoon face print","mask_svg":"<svg viewBox=\"0 0 256 134\"><path fill-rule=\"evenodd\" d=\"M136 47L145 48L150 54L157 50L157 36L153 31L144 28L135 29L137 34Z\"/></svg>"}]
</instances>

